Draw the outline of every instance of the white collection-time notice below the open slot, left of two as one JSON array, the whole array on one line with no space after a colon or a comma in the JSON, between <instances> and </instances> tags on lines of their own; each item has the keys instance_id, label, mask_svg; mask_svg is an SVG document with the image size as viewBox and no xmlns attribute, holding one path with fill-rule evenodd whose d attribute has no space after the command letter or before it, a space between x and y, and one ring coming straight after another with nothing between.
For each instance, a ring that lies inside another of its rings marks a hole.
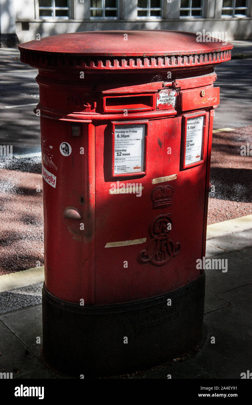
<instances>
[{"instance_id":1,"label":"white collection-time notice below the open slot, left of two","mask_svg":"<svg viewBox=\"0 0 252 405\"><path fill-rule=\"evenodd\" d=\"M114 174L144 170L144 131L144 124L115 126Z\"/></svg>"}]
</instances>

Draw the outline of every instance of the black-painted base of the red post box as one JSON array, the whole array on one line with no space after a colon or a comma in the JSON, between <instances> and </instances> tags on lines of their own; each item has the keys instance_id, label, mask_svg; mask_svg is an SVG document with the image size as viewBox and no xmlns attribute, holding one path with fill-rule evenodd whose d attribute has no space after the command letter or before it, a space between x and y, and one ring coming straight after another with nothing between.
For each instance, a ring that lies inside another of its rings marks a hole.
<instances>
[{"instance_id":1,"label":"black-painted base of the red post box","mask_svg":"<svg viewBox=\"0 0 252 405\"><path fill-rule=\"evenodd\" d=\"M202 339L204 296L205 274L167 294L111 305L69 303L44 286L44 359L85 378L161 364Z\"/></svg>"}]
</instances>

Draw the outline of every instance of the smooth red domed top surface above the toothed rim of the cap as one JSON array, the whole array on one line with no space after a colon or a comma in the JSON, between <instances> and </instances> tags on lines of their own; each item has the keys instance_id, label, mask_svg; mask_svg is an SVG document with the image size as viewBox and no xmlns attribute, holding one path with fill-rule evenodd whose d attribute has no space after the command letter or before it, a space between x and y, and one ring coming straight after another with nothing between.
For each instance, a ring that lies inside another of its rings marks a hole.
<instances>
[{"instance_id":1,"label":"smooth red domed top surface above the toothed rim of the cap","mask_svg":"<svg viewBox=\"0 0 252 405\"><path fill-rule=\"evenodd\" d=\"M19 49L90 56L192 55L230 49L230 44L196 38L193 32L165 30L75 32L30 41Z\"/></svg>"}]
</instances>

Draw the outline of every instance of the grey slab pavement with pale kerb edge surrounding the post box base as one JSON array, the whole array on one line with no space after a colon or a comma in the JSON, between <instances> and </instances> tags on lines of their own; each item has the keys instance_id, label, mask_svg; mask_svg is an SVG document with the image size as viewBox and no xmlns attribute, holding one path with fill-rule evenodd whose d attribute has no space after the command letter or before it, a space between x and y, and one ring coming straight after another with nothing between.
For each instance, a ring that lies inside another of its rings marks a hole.
<instances>
[{"instance_id":1,"label":"grey slab pavement with pale kerb edge surrounding the post box base","mask_svg":"<svg viewBox=\"0 0 252 405\"><path fill-rule=\"evenodd\" d=\"M203 341L164 364L106 379L167 379L168 374L172 379L240 379L251 370L252 215L208 226L207 238L205 257L227 260L228 266L227 272L205 270ZM0 276L0 370L13 372L13 379L79 379L59 373L42 358L42 267L18 273Z\"/></svg>"}]
</instances>

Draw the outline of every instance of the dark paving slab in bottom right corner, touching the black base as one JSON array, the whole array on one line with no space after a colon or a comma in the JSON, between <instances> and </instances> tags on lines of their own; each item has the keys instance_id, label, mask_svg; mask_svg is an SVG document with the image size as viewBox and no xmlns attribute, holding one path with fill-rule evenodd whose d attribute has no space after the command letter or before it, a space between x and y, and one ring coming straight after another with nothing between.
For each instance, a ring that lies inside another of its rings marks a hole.
<instances>
[{"instance_id":1,"label":"dark paving slab in bottom right corner, touching the black base","mask_svg":"<svg viewBox=\"0 0 252 405\"><path fill-rule=\"evenodd\" d=\"M252 315L229 305L206 314L205 322L208 337L191 361L215 378L240 378L252 364Z\"/></svg>"}]
</instances>

